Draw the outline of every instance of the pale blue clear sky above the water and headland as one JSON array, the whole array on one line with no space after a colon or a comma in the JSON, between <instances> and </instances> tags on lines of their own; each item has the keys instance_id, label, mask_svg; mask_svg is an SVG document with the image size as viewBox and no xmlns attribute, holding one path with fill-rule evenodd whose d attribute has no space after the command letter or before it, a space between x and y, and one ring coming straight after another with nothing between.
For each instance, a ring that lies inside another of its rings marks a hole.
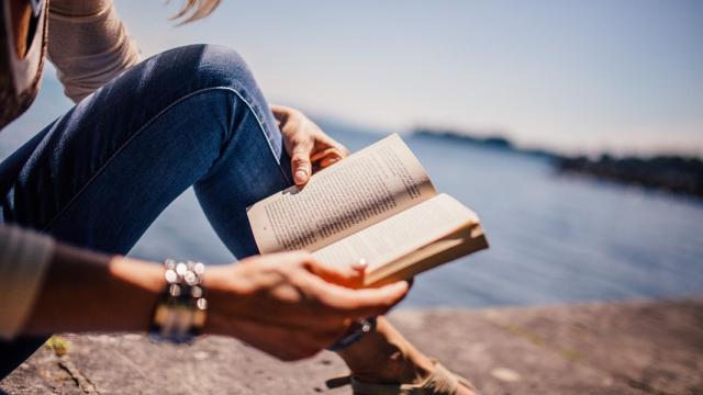
<instances>
[{"instance_id":1,"label":"pale blue clear sky above the water and headland","mask_svg":"<svg viewBox=\"0 0 703 395\"><path fill-rule=\"evenodd\" d=\"M703 1L116 0L144 55L236 48L269 100L354 124L703 155Z\"/></svg>"}]
</instances>

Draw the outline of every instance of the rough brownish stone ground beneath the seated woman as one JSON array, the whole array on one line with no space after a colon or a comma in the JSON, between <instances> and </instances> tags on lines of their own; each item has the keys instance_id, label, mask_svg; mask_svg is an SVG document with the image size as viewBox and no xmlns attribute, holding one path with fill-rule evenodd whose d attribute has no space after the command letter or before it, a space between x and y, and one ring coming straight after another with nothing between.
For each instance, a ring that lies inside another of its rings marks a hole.
<instances>
[{"instance_id":1,"label":"rough brownish stone ground beneath the seated woman","mask_svg":"<svg viewBox=\"0 0 703 395\"><path fill-rule=\"evenodd\" d=\"M703 300L401 311L394 324L483 394L703 394ZM66 335L4 381L8 394L346 394L336 356L283 363L222 337Z\"/></svg>"}]
</instances>

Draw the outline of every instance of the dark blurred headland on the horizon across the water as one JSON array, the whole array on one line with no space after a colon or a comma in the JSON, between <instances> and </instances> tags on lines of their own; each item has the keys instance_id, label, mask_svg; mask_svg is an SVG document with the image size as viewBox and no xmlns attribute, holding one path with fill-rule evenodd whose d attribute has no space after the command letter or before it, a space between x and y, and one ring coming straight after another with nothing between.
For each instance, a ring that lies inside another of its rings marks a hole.
<instances>
[{"instance_id":1,"label":"dark blurred headland on the horizon across the water","mask_svg":"<svg viewBox=\"0 0 703 395\"><path fill-rule=\"evenodd\" d=\"M521 148L501 135L477 136L461 131L427 127L415 128L413 135L539 156L549 159L555 169L562 173L585 174L703 199L703 160L701 158L680 156L616 158L603 154L594 159L585 156L569 157L545 149Z\"/></svg>"}]
</instances>

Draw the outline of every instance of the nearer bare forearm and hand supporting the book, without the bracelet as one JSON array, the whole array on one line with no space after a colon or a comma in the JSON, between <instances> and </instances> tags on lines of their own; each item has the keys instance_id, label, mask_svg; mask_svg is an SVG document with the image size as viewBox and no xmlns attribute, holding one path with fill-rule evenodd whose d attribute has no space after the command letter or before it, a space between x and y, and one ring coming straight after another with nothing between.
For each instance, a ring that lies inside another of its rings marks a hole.
<instances>
[{"instance_id":1,"label":"nearer bare forearm and hand supporting the book, without the bracelet","mask_svg":"<svg viewBox=\"0 0 703 395\"><path fill-rule=\"evenodd\" d=\"M325 268L303 251L211 267L203 281L204 331L236 337L282 360L310 357L354 320L384 314L408 292L405 282L352 289L361 275L358 269ZM158 263L57 245L22 332L145 331L164 285Z\"/></svg>"}]
</instances>

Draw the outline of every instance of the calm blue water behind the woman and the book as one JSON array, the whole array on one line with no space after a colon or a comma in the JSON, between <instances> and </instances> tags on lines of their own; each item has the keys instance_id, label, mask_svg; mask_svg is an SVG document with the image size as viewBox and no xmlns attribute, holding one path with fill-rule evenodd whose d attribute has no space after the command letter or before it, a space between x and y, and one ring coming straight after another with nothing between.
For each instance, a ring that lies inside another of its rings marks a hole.
<instances>
[{"instance_id":1,"label":"calm blue water behind the woman and the book","mask_svg":"<svg viewBox=\"0 0 703 395\"><path fill-rule=\"evenodd\" d=\"M0 159L68 102L53 79L31 112L0 135ZM322 125L352 149L380 135ZM491 249L416 279L404 306L532 305L703 293L703 202L558 176L545 159L448 144L405 142L435 185L479 213ZM187 191L132 255L227 262Z\"/></svg>"}]
</instances>

